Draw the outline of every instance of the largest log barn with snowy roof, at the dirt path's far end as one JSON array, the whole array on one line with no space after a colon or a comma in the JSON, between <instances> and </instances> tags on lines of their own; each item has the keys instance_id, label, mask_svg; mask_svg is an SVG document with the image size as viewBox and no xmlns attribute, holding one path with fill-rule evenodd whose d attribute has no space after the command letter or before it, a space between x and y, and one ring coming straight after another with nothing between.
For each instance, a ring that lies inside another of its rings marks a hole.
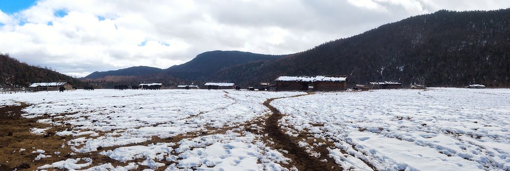
<instances>
[{"instance_id":1,"label":"largest log barn with snowy roof, at the dirt path's far end","mask_svg":"<svg viewBox=\"0 0 510 171\"><path fill-rule=\"evenodd\" d=\"M347 89L347 76L280 76L276 91L341 91Z\"/></svg>"}]
</instances>

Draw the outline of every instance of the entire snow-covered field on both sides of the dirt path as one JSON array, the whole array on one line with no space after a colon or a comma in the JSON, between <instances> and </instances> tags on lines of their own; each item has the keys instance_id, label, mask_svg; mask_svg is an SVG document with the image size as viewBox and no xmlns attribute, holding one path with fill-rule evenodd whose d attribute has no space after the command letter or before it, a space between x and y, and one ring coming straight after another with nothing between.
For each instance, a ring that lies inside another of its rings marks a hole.
<instances>
[{"instance_id":1,"label":"entire snow-covered field on both sides of the dirt path","mask_svg":"<svg viewBox=\"0 0 510 171\"><path fill-rule=\"evenodd\" d=\"M29 131L62 128L55 135L71 137L62 144L70 157L39 169L288 170L286 152L246 128L263 129L255 122L271 114L262 104L267 99L301 94L78 90L2 94L0 106L30 104L23 117L48 127ZM307 134L299 146L345 169L510 170L508 89L317 93L271 105L285 115L279 121L284 132ZM329 154L317 154L317 146L328 146ZM67 155L32 151L40 161ZM122 164L97 163L87 154Z\"/></svg>"}]
</instances>

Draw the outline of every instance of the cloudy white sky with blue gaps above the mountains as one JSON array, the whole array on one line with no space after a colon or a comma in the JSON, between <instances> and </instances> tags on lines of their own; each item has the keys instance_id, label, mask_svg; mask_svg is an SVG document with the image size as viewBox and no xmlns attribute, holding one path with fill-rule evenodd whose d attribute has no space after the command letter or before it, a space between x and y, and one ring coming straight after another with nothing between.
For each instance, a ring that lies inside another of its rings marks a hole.
<instances>
[{"instance_id":1,"label":"cloudy white sky with blue gaps above the mountains","mask_svg":"<svg viewBox=\"0 0 510 171\"><path fill-rule=\"evenodd\" d=\"M74 77L212 50L290 54L441 9L507 0L0 0L0 52Z\"/></svg>"}]
</instances>

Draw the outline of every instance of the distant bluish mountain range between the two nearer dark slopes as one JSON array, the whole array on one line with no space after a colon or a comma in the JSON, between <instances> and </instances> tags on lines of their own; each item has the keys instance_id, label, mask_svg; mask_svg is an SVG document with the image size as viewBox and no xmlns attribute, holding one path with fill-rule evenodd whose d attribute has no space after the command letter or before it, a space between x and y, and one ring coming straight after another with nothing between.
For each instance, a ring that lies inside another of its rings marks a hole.
<instances>
[{"instance_id":1,"label":"distant bluish mountain range between the two nearer dark slopes","mask_svg":"<svg viewBox=\"0 0 510 171\"><path fill-rule=\"evenodd\" d=\"M209 78L222 69L248 62L273 61L282 56L284 55L216 50L200 53L187 63L167 69L130 67L116 71L96 71L80 79L104 88L111 88L117 84L135 85L146 82L162 82L167 87L174 87L177 84L201 84L204 81L211 81Z\"/></svg>"}]
</instances>

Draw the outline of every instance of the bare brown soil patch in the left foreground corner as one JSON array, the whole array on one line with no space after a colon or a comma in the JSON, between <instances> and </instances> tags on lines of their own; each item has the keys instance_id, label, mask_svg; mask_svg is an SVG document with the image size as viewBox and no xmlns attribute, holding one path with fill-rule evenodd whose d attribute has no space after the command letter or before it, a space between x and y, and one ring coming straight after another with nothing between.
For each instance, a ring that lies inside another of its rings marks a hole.
<instances>
[{"instance_id":1,"label":"bare brown soil patch in the left foreground corner","mask_svg":"<svg viewBox=\"0 0 510 171\"><path fill-rule=\"evenodd\" d=\"M29 105L21 103L19 106L7 106L0 108L0 170L34 170L46 163L61 160L54 155L61 152L61 156L71 153L68 148L61 148L65 143L65 137L51 134L54 128L47 130L48 135L36 135L30 133L31 128L52 127L47 124L37 123L37 119L22 118L21 114ZM25 149L20 152L20 149ZM32 153L37 149L45 150L45 154L52 154L50 158L34 161L38 154Z\"/></svg>"}]
</instances>

